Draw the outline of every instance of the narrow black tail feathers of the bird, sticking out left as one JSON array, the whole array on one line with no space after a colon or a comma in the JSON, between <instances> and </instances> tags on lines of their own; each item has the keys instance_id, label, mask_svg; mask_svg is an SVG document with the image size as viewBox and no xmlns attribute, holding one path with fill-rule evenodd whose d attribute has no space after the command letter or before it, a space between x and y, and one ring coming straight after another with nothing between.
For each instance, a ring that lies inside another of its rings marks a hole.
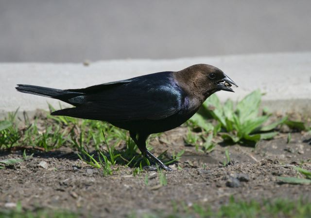
<instances>
[{"instance_id":1,"label":"narrow black tail feathers of the bird, sticking out left","mask_svg":"<svg viewBox=\"0 0 311 218\"><path fill-rule=\"evenodd\" d=\"M18 84L16 87L17 91L40 95L44 97L55 98L56 96L63 94L63 90L57 90L52 88L46 88L41 86L32 86L32 85L22 85Z\"/></svg>"}]
</instances>

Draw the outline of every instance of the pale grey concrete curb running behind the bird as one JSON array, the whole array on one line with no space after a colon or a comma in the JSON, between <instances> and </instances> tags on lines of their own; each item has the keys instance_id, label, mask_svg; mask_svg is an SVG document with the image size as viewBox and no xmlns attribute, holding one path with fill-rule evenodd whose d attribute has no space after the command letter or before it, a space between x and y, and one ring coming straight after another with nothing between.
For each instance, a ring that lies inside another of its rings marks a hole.
<instances>
[{"instance_id":1,"label":"pale grey concrete curb running behind the bird","mask_svg":"<svg viewBox=\"0 0 311 218\"><path fill-rule=\"evenodd\" d=\"M84 88L161 71L178 71L192 64L207 63L222 69L239 88L235 93L220 91L222 101L242 99L250 91L266 94L264 104L280 112L295 110L311 115L311 53L229 55L180 59L112 60L83 64L1 63L0 114L20 107L20 111L47 109L47 102L58 108L58 101L20 93L16 84L58 89Z\"/></svg>"}]
</instances>

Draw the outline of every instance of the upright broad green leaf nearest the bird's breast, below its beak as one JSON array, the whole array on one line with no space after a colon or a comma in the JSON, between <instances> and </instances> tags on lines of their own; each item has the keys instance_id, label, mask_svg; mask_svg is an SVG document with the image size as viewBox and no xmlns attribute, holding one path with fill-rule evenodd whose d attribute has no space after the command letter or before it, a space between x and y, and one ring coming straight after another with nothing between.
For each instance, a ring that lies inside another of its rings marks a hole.
<instances>
[{"instance_id":1,"label":"upright broad green leaf nearest the bird's breast, below its beak","mask_svg":"<svg viewBox=\"0 0 311 218\"><path fill-rule=\"evenodd\" d=\"M220 100L216 94L212 94L211 96L209 96L207 100L203 103L203 106L205 107L205 109L209 110L214 119L221 122L222 126L225 127L223 106L220 103Z\"/></svg>"}]
</instances>

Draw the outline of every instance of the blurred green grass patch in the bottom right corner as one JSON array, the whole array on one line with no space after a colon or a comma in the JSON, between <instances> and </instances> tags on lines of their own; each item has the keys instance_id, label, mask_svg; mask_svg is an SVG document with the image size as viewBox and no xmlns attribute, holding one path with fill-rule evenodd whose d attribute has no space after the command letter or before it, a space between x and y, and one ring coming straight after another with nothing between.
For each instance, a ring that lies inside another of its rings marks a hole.
<instances>
[{"instance_id":1,"label":"blurred green grass patch in the bottom right corner","mask_svg":"<svg viewBox=\"0 0 311 218\"><path fill-rule=\"evenodd\" d=\"M208 204L172 203L173 213L149 213L143 218L310 218L311 202L305 200L235 200L230 198L219 209L211 209ZM135 213L131 216L136 218Z\"/></svg>"}]
</instances>

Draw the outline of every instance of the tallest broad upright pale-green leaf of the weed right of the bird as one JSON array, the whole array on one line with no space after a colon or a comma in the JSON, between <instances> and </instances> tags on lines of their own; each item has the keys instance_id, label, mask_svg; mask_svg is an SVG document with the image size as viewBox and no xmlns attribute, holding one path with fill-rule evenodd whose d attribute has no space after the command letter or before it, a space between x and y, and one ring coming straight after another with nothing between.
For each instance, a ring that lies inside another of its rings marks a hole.
<instances>
[{"instance_id":1,"label":"tallest broad upright pale-green leaf of the weed right of the bird","mask_svg":"<svg viewBox=\"0 0 311 218\"><path fill-rule=\"evenodd\" d=\"M259 104L261 101L261 93L259 90L253 91L246 95L237 105L237 112L241 123L246 120L252 120L259 113Z\"/></svg>"}]
</instances>

